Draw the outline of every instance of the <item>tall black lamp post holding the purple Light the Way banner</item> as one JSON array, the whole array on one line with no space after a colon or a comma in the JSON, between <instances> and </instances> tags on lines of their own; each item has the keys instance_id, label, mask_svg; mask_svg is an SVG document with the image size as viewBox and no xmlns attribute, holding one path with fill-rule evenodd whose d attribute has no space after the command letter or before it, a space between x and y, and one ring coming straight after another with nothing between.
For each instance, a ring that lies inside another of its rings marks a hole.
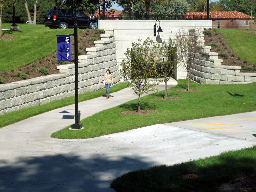
<instances>
[{"instance_id":1,"label":"tall black lamp post holding the purple Light the Way banner","mask_svg":"<svg viewBox=\"0 0 256 192\"><path fill-rule=\"evenodd\" d=\"M56 0L57 2L57 0ZM81 129L82 124L79 123L79 111L78 111L78 43L77 43L77 17L76 17L76 0L73 5L74 8L74 41L75 41L75 124L71 125L71 129Z\"/></svg>"}]
</instances>

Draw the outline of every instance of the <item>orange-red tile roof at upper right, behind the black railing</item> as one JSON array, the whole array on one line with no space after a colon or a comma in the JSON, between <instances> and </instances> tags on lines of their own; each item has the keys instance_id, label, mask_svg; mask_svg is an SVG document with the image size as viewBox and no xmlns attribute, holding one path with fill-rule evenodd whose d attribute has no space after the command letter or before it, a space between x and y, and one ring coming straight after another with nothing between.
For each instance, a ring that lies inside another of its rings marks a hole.
<instances>
[{"instance_id":1,"label":"orange-red tile roof at upper right, behind the black railing","mask_svg":"<svg viewBox=\"0 0 256 192\"><path fill-rule=\"evenodd\" d=\"M214 14L218 14L220 19L250 19L250 15L238 11L209 11L209 16L213 18ZM207 15L206 11L187 12L187 15ZM215 15L215 17L218 17ZM252 17L252 19L255 19Z\"/></svg>"}]
</instances>

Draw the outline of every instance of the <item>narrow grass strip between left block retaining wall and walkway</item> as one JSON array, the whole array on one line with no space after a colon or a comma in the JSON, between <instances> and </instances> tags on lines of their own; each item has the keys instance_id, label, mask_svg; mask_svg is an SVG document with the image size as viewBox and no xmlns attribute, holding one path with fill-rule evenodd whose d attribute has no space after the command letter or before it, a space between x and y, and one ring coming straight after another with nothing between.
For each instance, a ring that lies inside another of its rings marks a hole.
<instances>
[{"instance_id":1,"label":"narrow grass strip between left block retaining wall and walkway","mask_svg":"<svg viewBox=\"0 0 256 192\"><path fill-rule=\"evenodd\" d=\"M127 87L126 83L116 84L115 86L111 87L110 92L116 92L116 91L119 91L126 87ZM102 95L106 95L105 89L100 89L100 90L92 91L92 92L86 92L86 93L79 95L79 102L82 102L85 100L90 100L90 99L97 98L97 97L101 97ZM75 103L75 96L67 97L67 98L64 98L61 100L52 101L52 102L44 104L44 105L25 108L25 109L21 109L19 111L14 111L11 113L6 113L3 115L0 115L0 128L10 125L10 124L13 124L13 123L16 123L23 119L27 119L29 117L36 116L38 114L41 114L41 113L44 113L47 111L51 111L53 109L72 105L74 103Z\"/></svg>"}]
</instances>

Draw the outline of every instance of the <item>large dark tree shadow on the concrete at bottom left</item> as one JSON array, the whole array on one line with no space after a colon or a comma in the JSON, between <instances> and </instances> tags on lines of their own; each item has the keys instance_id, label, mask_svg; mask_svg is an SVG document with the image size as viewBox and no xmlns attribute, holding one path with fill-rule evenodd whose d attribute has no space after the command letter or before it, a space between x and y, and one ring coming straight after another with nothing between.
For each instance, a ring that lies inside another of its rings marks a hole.
<instances>
[{"instance_id":1,"label":"large dark tree shadow on the concrete at bottom left","mask_svg":"<svg viewBox=\"0 0 256 192\"><path fill-rule=\"evenodd\" d=\"M113 160L104 154L87 159L61 154L24 157L12 163L1 161L0 191L114 191L109 188L113 179L152 164L143 157L125 156Z\"/></svg>"}]
</instances>

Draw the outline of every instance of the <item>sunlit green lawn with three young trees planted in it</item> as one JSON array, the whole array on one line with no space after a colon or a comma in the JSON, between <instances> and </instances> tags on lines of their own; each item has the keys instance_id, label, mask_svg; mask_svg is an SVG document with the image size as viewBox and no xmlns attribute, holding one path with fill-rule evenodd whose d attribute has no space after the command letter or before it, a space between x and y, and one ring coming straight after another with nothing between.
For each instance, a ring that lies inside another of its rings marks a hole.
<instances>
[{"instance_id":1,"label":"sunlit green lawn with three young trees planted in it","mask_svg":"<svg viewBox=\"0 0 256 192\"><path fill-rule=\"evenodd\" d=\"M91 138L122 132L153 124L183 121L210 116L220 116L256 110L256 83L241 85L205 85L190 84L195 92L175 92L187 88L187 80L178 80L178 85L168 89L168 97L180 97L180 100L150 100L164 97L164 91L141 98L141 109L154 109L157 113L147 115L123 115L119 112L137 110L138 100L132 100L120 106L101 111L81 121L85 129L70 131L68 127L55 132L53 138ZM108 114L106 116L106 114ZM111 118L109 118L109 116ZM129 124L127 124L129 122ZM112 124L112 125L108 125Z\"/></svg>"}]
</instances>

